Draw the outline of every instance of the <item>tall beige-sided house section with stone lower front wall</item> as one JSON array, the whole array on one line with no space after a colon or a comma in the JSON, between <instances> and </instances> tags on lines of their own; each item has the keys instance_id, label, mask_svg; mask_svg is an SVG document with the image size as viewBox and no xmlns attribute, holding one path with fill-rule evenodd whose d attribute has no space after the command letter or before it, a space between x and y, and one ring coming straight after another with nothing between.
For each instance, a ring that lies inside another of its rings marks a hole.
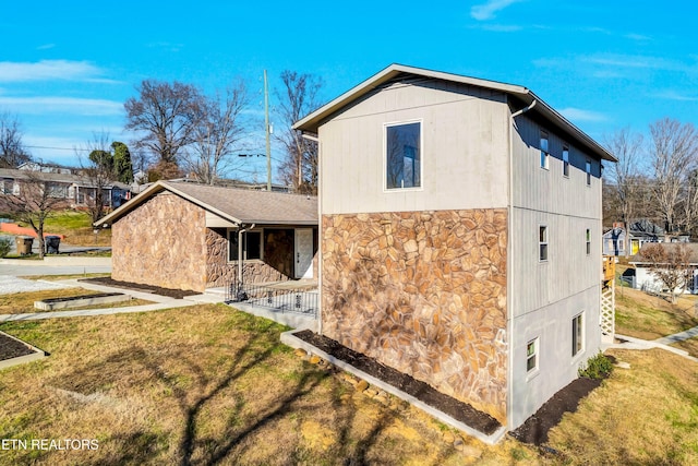
<instances>
[{"instance_id":1,"label":"tall beige-sided house section with stone lower front wall","mask_svg":"<svg viewBox=\"0 0 698 466\"><path fill-rule=\"evenodd\" d=\"M320 332L520 426L600 348L601 160L526 87L394 64L320 144Z\"/></svg>"}]
</instances>

